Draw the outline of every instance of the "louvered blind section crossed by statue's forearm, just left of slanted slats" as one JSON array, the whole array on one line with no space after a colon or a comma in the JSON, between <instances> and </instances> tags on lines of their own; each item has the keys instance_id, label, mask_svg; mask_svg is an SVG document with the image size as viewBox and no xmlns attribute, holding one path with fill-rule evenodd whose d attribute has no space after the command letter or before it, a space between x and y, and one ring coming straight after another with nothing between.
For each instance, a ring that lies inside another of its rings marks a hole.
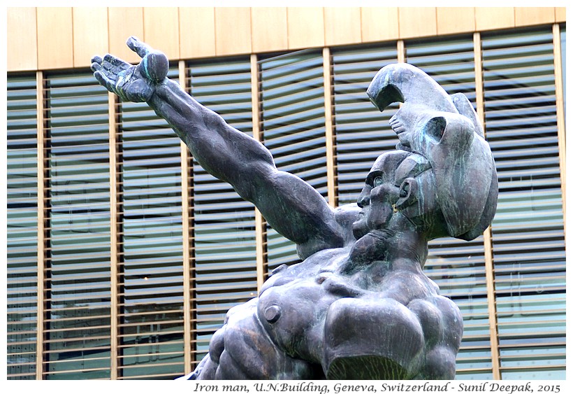
<instances>
[{"instance_id":1,"label":"louvered blind section crossed by statue's forearm, just left of slanted slats","mask_svg":"<svg viewBox=\"0 0 573 394\"><path fill-rule=\"evenodd\" d=\"M191 95L252 136L249 59L189 64ZM198 362L226 311L256 297L254 206L228 183L193 164L194 313Z\"/></svg>"}]
</instances>

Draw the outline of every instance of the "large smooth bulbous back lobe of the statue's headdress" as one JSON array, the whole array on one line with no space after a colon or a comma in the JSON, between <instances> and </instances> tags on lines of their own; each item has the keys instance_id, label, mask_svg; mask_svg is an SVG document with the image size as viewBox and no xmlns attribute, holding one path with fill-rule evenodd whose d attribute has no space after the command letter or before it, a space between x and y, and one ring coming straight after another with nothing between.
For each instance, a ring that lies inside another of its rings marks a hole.
<instances>
[{"instance_id":1,"label":"large smooth bulbous back lobe of the statue's headdress","mask_svg":"<svg viewBox=\"0 0 573 394\"><path fill-rule=\"evenodd\" d=\"M495 164L488 143L474 132L474 125L465 116L440 116L430 120L430 127L439 131L444 121L440 141L426 146L437 201L451 237L472 239L486 229L495 213Z\"/></svg>"}]
</instances>

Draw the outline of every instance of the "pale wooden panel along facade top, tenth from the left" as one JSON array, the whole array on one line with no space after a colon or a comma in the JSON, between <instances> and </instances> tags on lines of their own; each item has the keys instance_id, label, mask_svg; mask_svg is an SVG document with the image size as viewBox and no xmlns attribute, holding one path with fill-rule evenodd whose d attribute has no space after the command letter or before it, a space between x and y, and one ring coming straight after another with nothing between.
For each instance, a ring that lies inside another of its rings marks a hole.
<instances>
[{"instance_id":1,"label":"pale wooden panel along facade top, tenth from the left","mask_svg":"<svg viewBox=\"0 0 573 394\"><path fill-rule=\"evenodd\" d=\"M361 17L359 7L324 8L326 45L361 42Z\"/></svg>"}]
</instances>

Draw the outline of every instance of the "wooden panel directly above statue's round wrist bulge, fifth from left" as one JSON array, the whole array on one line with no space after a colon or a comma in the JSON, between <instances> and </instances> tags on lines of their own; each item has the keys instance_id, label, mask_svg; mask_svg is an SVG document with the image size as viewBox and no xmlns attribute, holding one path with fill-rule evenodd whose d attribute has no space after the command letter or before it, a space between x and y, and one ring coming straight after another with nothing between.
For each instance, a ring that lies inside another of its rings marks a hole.
<instances>
[{"instance_id":1,"label":"wooden panel directly above statue's round wrist bulge, fifth from left","mask_svg":"<svg viewBox=\"0 0 573 394\"><path fill-rule=\"evenodd\" d=\"M144 7L145 42L164 52L169 59L179 59L179 11L174 7Z\"/></svg>"}]
</instances>

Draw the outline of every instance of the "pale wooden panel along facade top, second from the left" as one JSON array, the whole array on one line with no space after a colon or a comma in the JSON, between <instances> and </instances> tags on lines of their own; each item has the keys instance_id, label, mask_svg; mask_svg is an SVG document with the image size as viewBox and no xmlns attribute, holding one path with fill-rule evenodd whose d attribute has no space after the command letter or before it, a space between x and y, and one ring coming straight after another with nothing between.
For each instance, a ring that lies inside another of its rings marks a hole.
<instances>
[{"instance_id":1,"label":"pale wooden panel along facade top, second from the left","mask_svg":"<svg viewBox=\"0 0 573 394\"><path fill-rule=\"evenodd\" d=\"M72 66L71 7L38 7L36 11L38 17L38 69L61 69Z\"/></svg>"}]
</instances>

